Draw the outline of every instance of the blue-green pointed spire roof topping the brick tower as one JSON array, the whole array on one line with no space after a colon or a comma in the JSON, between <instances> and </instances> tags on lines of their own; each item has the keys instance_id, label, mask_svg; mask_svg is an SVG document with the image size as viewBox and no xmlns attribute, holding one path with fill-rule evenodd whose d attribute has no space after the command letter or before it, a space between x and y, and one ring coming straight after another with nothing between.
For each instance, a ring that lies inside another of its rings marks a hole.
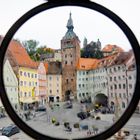
<instances>
[{"instance_id":1,"label":"blue-green pointed spire roof topping the brick tower","mask_svg":"<svg viewBox=\"0 0 140 140\"><path fill-rule=\"evenodd\" d=\"M71 16L71 12L69 14L69 19L68 19L68 22L67 22L67 32L65 34L65 36L63 37L63 39L72 39L74 37L77 37L76 34L74 33L73 29L74 29L74 26L73 26L73 20L72 20L72 16Z\"/></svg>"}]
</instances>

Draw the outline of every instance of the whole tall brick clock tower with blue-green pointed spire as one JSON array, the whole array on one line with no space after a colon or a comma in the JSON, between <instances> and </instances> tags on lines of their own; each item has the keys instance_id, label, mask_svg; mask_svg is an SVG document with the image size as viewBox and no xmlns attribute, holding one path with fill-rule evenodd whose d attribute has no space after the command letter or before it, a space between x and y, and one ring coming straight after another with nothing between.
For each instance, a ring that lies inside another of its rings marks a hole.
<instances>
[{"instance_id":1,"label":"whole tall brick clock tower with blue-green pointed spire","mask_svg":"<svg viewBox=\"0 0 140 140\"><path fill-rule=\"evenodd\" d=\"M66 27L67 32L61 40L63 100L69 100L71 95L76 95L76 66L80 58L80 41L73 31L71 13Z\"/></svg>"}]
</instances>

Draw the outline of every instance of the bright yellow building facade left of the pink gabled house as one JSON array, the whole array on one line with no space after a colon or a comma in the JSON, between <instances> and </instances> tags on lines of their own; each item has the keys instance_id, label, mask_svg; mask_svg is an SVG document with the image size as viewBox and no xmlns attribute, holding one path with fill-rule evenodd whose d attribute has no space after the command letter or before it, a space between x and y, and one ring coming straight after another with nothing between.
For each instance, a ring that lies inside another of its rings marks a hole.
<instances>
[{"instance_id":1,"label":"bright yellow building facade left of the pink gabled house","mask_svg":"<svg viewBox=\"0 0 140 140\"><path fill-rule=\"evenodd\" d=\"M32 103L38 101L38 72L37 69L26 67L19 68L19 91L20 101Z\"/></svg>"}]
</instances>

